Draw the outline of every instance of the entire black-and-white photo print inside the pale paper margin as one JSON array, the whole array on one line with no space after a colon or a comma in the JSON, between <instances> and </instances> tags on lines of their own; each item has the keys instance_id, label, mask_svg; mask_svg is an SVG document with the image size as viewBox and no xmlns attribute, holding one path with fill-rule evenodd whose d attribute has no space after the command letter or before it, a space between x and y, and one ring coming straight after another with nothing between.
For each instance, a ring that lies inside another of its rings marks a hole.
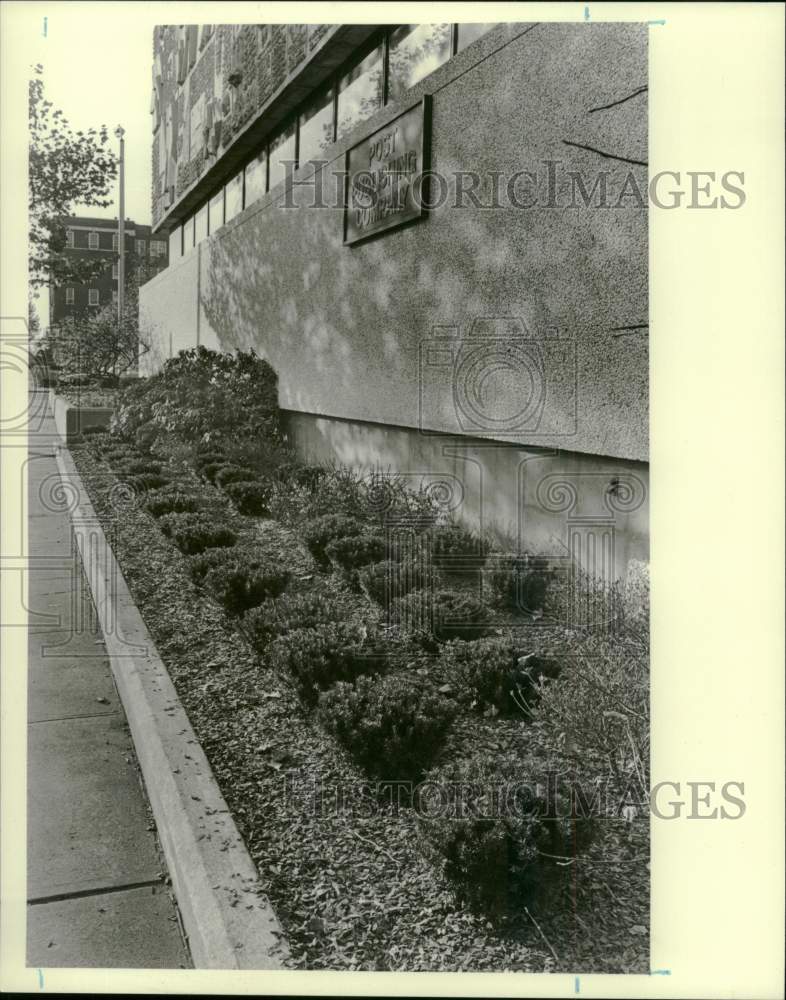
<instances>
[{"instance_id":1,"label":"entire black-and-white photo print inside the pale paper margin","mask_svg":"<svg viewBox=\"0 0 786 1000\"><path fill-rule=\"evenodd\" d=\"M666 989L653 824L748 802L651 773L652 216L752 197L653 165L667 20L24 6L37 986Z\"/></svg>"}]
</instances>

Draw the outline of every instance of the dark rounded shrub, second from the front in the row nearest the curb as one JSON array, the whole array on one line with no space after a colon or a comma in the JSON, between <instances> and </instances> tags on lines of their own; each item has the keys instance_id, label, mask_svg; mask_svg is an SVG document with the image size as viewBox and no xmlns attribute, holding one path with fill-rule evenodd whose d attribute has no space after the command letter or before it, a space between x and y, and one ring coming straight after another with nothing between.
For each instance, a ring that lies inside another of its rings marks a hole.
<instances>
[{"instance_id":1,"label":"dark rounded shrub, second from the front in the row nearest the curb","mask_svg":"<svg viewBox=\"0 0 786 1000\"><path fill-rule=\"evenodd\" d=\"M455 709L410 678L361 676L319 699L322 725L382 779L416 780L434 760Z\"/></svg>"}]
</instances>

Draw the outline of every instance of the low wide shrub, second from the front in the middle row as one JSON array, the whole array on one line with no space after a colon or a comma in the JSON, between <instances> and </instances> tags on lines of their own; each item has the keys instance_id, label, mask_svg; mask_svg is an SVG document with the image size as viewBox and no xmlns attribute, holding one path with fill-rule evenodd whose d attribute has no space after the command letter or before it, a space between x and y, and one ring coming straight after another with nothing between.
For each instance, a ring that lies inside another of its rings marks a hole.
<instances>
[{"instance_id":1,"label":"low wide shrub, second from the front in the middle row","mask_svg":"<svg viewBox=\"0 0 786 1000\"><path fill-rule=\"evenodd\" d=\"M393 615L403 628L437 642L478 639L489 620L481 601L454 590L413 590L394 603Z\"/></svg>"}]
</instances>

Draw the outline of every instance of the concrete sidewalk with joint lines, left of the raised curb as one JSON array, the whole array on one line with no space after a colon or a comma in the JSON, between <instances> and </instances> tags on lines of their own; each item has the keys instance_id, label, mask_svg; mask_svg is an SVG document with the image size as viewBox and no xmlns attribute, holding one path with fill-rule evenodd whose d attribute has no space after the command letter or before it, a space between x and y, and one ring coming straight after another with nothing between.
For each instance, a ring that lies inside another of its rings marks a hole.
<instances>
[{"instance_id":1,"label":"concrete sidewalk with joint lines, left of the raised curb","mask_svg":"<svg viewBox=\"0 0 786 1000\"><path fill-rule=\"evenodd\" d=\"M59 443L47 412L27 466L27 962L190 967L74 544Z\"/></svg>"}]
</instances>

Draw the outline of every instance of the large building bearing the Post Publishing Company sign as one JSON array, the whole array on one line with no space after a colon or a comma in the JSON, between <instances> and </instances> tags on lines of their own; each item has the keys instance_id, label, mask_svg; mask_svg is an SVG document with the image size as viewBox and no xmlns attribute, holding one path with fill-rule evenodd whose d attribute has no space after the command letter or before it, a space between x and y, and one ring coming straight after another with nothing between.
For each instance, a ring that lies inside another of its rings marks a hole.
<instances>
[{"instance_id":1,"label":"large building bearing the Post Publishing Company sign","mask_svg":"<svg viewBox=\"0 0 786 1000\"><path fill-rule=\"evenodd\" d=\"M253 349L304 457L646 557L647 80L633 23L157 28L143 368Z\"/></svg>"}]
</instances>

